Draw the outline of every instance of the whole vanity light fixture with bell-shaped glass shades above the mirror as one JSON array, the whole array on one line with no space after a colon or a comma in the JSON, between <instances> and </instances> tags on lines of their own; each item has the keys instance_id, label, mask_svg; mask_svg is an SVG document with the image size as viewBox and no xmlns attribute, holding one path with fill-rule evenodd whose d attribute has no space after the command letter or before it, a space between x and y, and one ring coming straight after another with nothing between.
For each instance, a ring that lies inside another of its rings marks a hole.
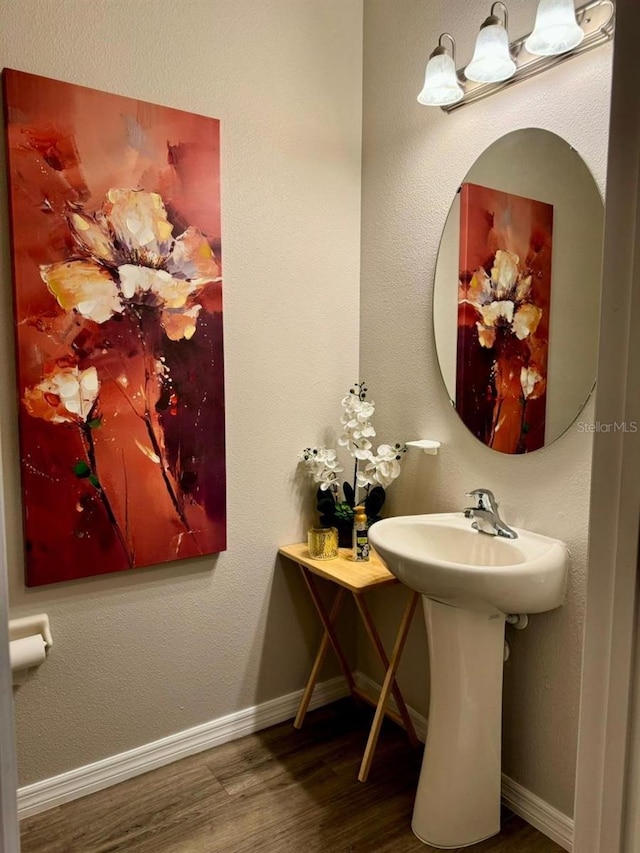
<instances>
[{"instance_id":1,"label":"whole vanity light fixture with bell-shaped glass shades above the mirror","mask_svg":"<svg viewBox=\"0 0 640 853\"><path fill-rule=\"evenodd\" d=\"M494 9L498 6L504 8L504 25L498 16L493 14ZM492 21L492 18L497 23ZM533 32L527 33L508 44L508 56L515 65L514 73L510 77L500 80L498 77L494 77L492 82L488 82L487 77L474 74L478 43L481 42L483 32L487 31L493 36L497 30L503 30L502 36L508 39L506 24L507 14L504 4L494 3L491 7L491 16L484 22L478 35L473 59L466 69L458 68L454 73L451 73L451 66L455 64L455 42L448 33L443 33L440 36L438 47L429 59L427 73L425 74L425 85L418 95L418 101L428 106L442 107L445 112L452 112L466 104L482 100L494 92L499 92L507 86L512 86L514 83L534 77L542 71L546 71L547 68L553 68L558 63L571 59L579 53L606 44L613 38L615 29L615 3L614 0L588 0L582 6L574 9L573 0L540 0ZM580 30L581 35L577 33L576 27ZM447 54L441 44L445 36L451 39L451 56ZM480 46L482 47L482 43ZM543 51L545 52L543 53ZM440 62L433 66L432 76L430 66L435 59L439 59ZM448 61L446 63L448 65L446 86L442 82L445 80L445 61ZM437 74L436 71L438 71ZM436 81L439 82L438 86L435 85ZM449 93L450 100L439 100L438 97L443 97L445 90ZM438 93L440 94L438 95Z\"/></svg>"}]
</instances>

